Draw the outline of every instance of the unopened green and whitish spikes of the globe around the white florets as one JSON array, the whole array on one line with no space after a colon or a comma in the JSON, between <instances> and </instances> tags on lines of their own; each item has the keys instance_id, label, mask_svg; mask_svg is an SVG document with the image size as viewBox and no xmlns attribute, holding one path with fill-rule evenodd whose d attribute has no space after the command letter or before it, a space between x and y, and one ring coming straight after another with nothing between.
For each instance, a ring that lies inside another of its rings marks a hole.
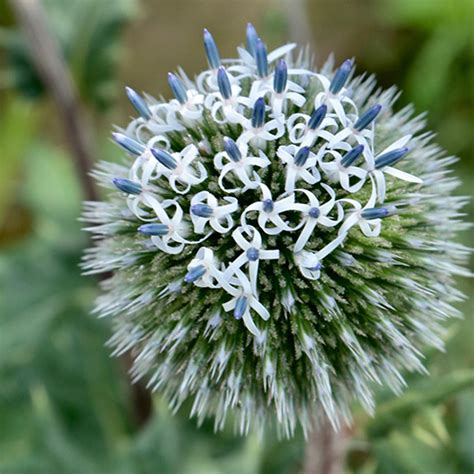
<instances>
[{"instance_id":1,"label":"unopened green and whitish spikes of the globe around the white florets","mask_svg":"<svg viewBox=\"0 0 474 474\"><path fill-rule=\"evenodd\" d=\"M297 67L308 66L304 57L299 61ZM330 63L322 71L333 74ZM306 84L304 112L311 113L318 87L316 79ZM180 284L199 246L170 255L137 234L142 222L111 185L114 177L128 177L133 160L102 163L95 173L111 191L103 202L86 203L84 219L99 239L84 266L91 273L113 273L102 284L97 311L113 320L114 354L130 350L136 379L145 378L173 408L191 400L191 414L199 421L214 416L216 429L229 416L242 433L276 420L281 432L291 436L298 423L306 431L314 415L324 413L336 426L349 420L354 401L372 412L374 384L400 392L401 372L424 371L423 349L441 349L445 320L459 316L453 304L462 295L454 276L465 273L467 249L454 242L466 227L460 211L465 199L453 195L459 181L450 167L456 158L432 143L432 134L423 133L424 119L415 117L411 107L394 112L394 88L375 90L372 77L356 77L349 88L359 110L384 104L376 122L375 152L414 135L403 170L424 183L388 178L385 202L400 211L384 219L378 237L352 228L343 247L324 259L319 280L305 279L296 267L292 233L263 235L264 248L280 250L277 263L260 263L259 299L270 312L268 321L258 321L266 332L263 344L255 342L241 320L222 310L229 299L224 290ZM200 150L209 178L192 194L219 192L213 157L222 151L224 136L237 139L239 133L238 125L220 125L205 114L197 125L167 135L172 150L190 143ZM202 142L210 150L203 150ZM283 136L266 149L272 164L261 177L275 195L284 191L285 179L275 149L287 143ZM347 195L337 183L332 185L338 197ZM172 197L167 192L163 198ZM192 194L180 197L183 209L189 209ZM362 188L357 199L365 202L369 194ZM256 191L239 196L242 208L255 200ZM336 233L318 227L307 249L321 248ZM199 236L190 229L189 238ZM238 255L229 234L212 235L205 245L224 261ZM288 298L294 299L290 305Z\"/></svg>"}]
</instances>

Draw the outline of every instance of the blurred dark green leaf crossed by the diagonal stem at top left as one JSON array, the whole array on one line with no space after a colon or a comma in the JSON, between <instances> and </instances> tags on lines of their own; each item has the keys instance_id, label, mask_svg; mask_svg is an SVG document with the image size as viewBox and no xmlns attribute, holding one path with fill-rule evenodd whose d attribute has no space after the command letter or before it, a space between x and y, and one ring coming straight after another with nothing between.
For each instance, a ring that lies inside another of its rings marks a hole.
<instances>
[{"instance_id":1,"label":"blurred dark green leaf crossed by the diagonal stem at top left","mask_svg":"<svg viewBox=\"0 0 474 474\"><path fill-rule=\"evenodd\" d=\"M135 14L135 2L43 0L42 4L82 100L97 108L110 105L117 94L119 39ZM0 29L0 47L8 54L8 67L2 74L5 85L28 97L41 97L44 87L19 29Z\"/></svg>"}]
</instances>

